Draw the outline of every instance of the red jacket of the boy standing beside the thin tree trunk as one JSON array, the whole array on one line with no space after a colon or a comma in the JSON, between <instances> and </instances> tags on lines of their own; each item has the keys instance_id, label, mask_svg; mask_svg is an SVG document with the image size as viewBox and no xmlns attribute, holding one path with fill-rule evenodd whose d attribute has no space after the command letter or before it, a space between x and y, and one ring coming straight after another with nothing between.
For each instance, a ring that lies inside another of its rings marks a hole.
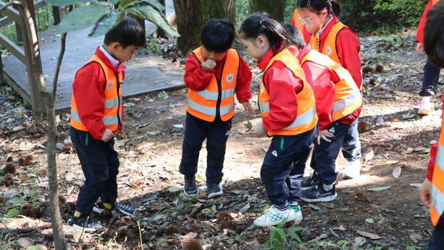
<instances>
[{"instance_id":1,"label":"red jacket of the boy standing beside the thin tree trunk","mask_svg":"<svg viewBox=\"0 0 444 250\"><path fill-rule=\"evenodd\" d=\"M117 74L126 68L123 64L119 64L117 68L113 67L99 47L97 47L95 54ZM124 78L125 73L123 73ZM102 121L105 111L105 84L105 74L102 67L99 63L94 62L83 66L73 82L73 94L79 118L96 140L102 138L106 128Z\"/></svg>"}]
</instances>

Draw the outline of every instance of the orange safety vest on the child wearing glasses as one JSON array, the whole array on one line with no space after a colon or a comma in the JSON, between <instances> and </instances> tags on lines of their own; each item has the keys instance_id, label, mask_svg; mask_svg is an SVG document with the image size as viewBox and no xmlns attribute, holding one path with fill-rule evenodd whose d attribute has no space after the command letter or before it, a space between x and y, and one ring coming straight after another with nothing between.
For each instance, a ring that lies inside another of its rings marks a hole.
<instances>
[{"instance_id":1,"label":"orange safety vest on the child wearing glasses","mask_svg":"<svg viewBox=\"0 0 444 250\"><path fill-rule=\"evenodd\" d=\"M348 28L347 26L345 26L344 24L342 24L341 22L337 22L333 25L332 30L329 31L329 34L327 35L325 44L324 44L324 48L322 49L322 54L327 55L330 57L330 59L332 59L335 63L338 63L339 65L342 66L341 60L339 60L339 57L337 56L337 51L336 51L336 37L337 37L337 33L339 31L341 31L343 28ZM354 32L353 32L354 33ZM356 33L354 33L356 35L356 37L359 40L359 37ZM319 48L318 47L318 39L312 35L310 38L309 43L311 44L312 48ZM318 51L320 52L320 51ZM359 58L361 58L361 52L359 52ZM362 74L362 67L361 67L361 74ZM361 88L359 89L360 91L362 90L362 84L361 84Z\"/></svg>"}]
</instances>

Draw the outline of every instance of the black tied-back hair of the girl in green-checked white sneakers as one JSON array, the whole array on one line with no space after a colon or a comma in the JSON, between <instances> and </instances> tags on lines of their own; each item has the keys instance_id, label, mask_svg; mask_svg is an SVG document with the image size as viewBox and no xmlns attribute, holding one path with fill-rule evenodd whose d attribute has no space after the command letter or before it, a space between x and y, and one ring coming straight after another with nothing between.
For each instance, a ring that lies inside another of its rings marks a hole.
<instances>
[{"instance_id":1,"label":"black tied-back hair of the girl in green-checked white sneakers","mask_svg":"<svg viewBox=\"0 0 444 250\"><path fill-rule=\"evenodd\" d=\"M273 52L276 52L287 39L284 28L267 13L251 14L242 22L239 37L254 40L260 35L267 37Z\"/></svg>"}]
</instances>

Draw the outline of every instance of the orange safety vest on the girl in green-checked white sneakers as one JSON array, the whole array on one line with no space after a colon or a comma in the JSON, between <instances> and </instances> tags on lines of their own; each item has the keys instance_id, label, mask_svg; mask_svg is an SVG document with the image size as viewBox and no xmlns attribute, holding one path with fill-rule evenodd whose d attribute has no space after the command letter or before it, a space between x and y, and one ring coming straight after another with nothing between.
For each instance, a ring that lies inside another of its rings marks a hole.
<instances>
[{"instance_id":1,"label":"orange safety vest on the girl in green-checked white sneakers","mask_svg":"<svg viewBox=\"0 0 444 250\"><path fill-rule=\"evenodd\" d=\"M285 66L290 69L293 74L302 80L303 86L299 93L296 93L297 99L297 114L295 121L282 129L268 131L268 136L273 135L297 135L307 132L313 129L318 124L318 116L316 115L315 98L313 90L310 85L305 80L305 75L297 62L296 58L288 51L283 49L271 58L268 65L263 71L263 75L266 74L267 69L275 62L281 61ZM260 80L259 85L259 110L263 117L270 115L270 94L265 89L265 84L263 83L263 75ZM272 84L272 83L270 83Z\"/></svg>"}]
</instances>

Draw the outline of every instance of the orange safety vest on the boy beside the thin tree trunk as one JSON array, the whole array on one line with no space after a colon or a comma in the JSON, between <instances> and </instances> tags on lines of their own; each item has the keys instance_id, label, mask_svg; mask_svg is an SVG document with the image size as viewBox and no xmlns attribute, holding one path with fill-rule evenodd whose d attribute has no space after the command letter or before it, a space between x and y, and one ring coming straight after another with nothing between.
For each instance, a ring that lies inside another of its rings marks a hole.
<instances>
[{"instance_id":1,"label":"orange safety vest on the boy beside the thin tree trunk","mask_svg":"<svg viewBox=\"0 0 444 250\"><path fill-rule=\"evenodd\" d=\"M114 71L103 63L97 55L91 57L88 63L91 62L99 63L100 66L102 66L103 72L105 73L107 84L104 90L106 100L104 103L105 112L102 121L107 128L114 132L118 128L121 128L122 124L122 88L120 88L120 84L123 80L123 71L118 74L119 80L117 82L117 76ZM82 69L83 67L80 68L77 73ZM77 75L77 73L75 75ZM78 130L88 131L78 116L74 92L73 97L71 98L71 125Z\"/></svg>"}]
</instances>

